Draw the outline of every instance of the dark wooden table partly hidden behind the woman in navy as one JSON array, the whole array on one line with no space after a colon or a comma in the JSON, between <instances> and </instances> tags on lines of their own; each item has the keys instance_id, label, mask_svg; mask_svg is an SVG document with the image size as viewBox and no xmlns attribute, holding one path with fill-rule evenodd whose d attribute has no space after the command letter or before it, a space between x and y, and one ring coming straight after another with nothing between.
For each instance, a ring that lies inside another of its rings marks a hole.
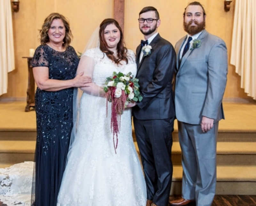
<instances>
[{"instance_id":1,"label":"dark wooden table partly hidden behind the woman in navy","mask_svg":"<svg viewBox=\"0 0 256 206\"><path fill-rule=\"evenodd\" d=\"M30 107L35 108L35 80L31 61L33 57L22 57L28 60L28 89L27 89L27 105L25 111L30 111Z\"/></svg>"}]
</instances>

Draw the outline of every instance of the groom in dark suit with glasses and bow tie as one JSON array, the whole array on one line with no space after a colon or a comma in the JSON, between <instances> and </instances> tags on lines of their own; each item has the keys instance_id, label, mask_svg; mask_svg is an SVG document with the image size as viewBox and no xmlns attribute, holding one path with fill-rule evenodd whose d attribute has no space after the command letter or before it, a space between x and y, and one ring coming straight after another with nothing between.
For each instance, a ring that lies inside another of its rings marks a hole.
<instances>
[{"instance_id":1,"label":"groom in dark suit with glasses and bow tie","mask_svg":"<svg viewBox=\"0 0 256 206\"><path fill-rule=\"evenodd\" d=\"M172 131L175 117L172 77L175 50L158 33L159 13L148 6L139 14L145 41L136 50L141 102L133 122L147 185L147 206L167 206L172 182Z\"/></svg>"}]
</instances>

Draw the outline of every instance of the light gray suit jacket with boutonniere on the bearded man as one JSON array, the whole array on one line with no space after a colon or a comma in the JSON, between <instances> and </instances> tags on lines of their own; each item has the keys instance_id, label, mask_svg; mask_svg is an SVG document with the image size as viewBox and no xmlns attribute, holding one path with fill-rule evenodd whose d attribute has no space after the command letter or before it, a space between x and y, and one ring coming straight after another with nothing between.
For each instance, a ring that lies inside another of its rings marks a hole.
<instances>
[{"instance_id":1,"label":"light gray suit jacket with boutonniere on the bearded man","mask_svg":"<svg viewBox=\"0 0 256 206\"><path fill-rule=\"evenodd\" d=\"M214 122L224 119L222 98L227 83L228 58L225 42L206 30L197 39L201 46L188 50L179 64L180 49L186 40L181 38L175 45L176 118L188 124L199 125L202 116Z\"/></svg>"}]
</instances>

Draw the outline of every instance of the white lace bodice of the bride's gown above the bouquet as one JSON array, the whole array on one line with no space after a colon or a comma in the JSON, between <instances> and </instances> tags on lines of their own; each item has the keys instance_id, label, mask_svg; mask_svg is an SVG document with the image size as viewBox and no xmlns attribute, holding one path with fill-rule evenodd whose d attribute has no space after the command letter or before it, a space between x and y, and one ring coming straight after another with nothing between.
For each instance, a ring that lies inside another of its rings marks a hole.
<instances>
[{"instance_id":1,"label":"white lace bodice of the bride's gown above the bouquet","mask_svg":"<svg viewBox=\"0 0 256 206\"><path fill-rule=\"evenodd\" d=\"M99 47L87 50L83 56L84 55L93 58L94 71L92 81L98 85L103 85L106 78L112 76L114 71L117 73L122 72L124 74L132 72L133 76L136 76L137 67L135 54L132 50L127 50L128 64L124 62L123 65L114 64L112 60L100 50Z\"/></svg>"}]
</instances>

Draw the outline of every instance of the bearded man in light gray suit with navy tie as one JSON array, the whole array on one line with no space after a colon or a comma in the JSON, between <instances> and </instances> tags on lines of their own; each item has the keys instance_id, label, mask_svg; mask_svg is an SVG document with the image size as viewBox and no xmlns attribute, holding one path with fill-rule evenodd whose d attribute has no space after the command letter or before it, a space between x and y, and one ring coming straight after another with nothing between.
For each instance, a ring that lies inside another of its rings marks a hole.
<instances>
[{"instance_id":1,"label":"bearded man in light gray suit with navy tie","mask_svg":"<svg viewBox=\"0 0 256 206\"><path fill-rule=\"evenodd\" d=\"M227 48L205 28L205 11L192 2L183 14L188 35L175 45L175 109L182 151L182 198L171 205L210 206L216 188L216 139L224 119Z\"/></svg>"}]
</instances>

